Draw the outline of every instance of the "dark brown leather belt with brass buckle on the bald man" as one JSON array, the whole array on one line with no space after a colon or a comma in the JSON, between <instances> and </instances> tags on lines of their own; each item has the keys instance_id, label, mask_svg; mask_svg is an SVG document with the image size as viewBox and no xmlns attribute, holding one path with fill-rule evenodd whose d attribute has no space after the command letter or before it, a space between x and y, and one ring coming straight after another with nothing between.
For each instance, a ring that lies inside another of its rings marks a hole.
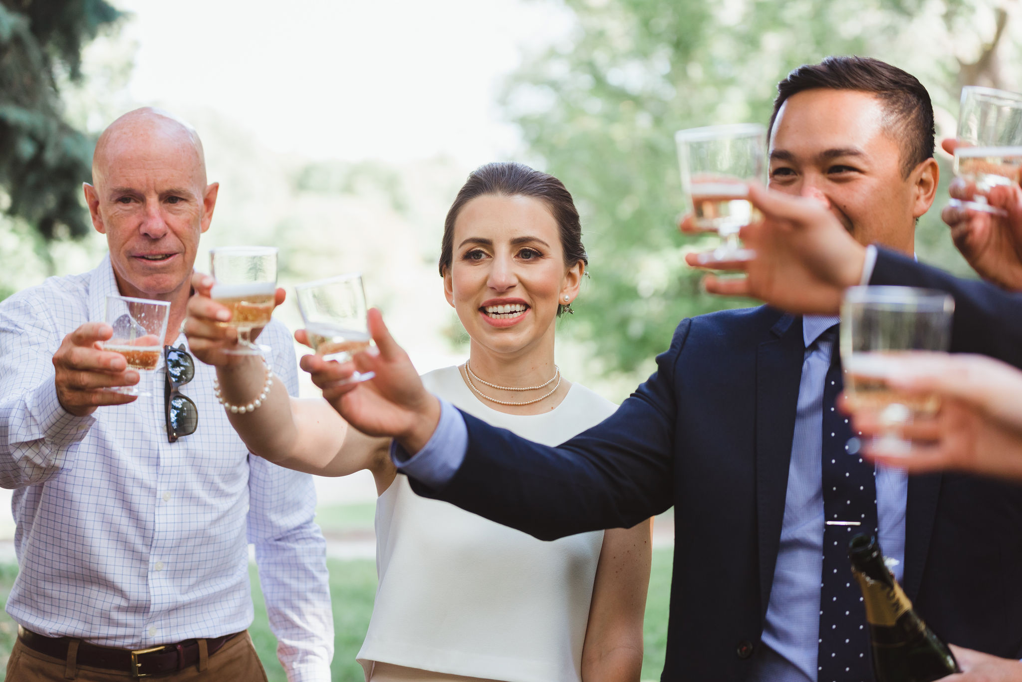
<instances>
[{"instance_id":1,"label":"dark brown leather belt with brass buckle on the bald man","mask_svg":"<svg viewBox=\"0 0 1022 682\"><path fill-rule=\"evenodd\" d=\"M205 640L206 652L213 655L227 642L242 632ZM71 642L78 641L78 666L90 666L131 673L132 677L150 677L164 673L174 673L198 663L198 640L186 639L177 644L162 644L144 649L115 649L108 646L96 646L73 637L46 637L38 633L18 628L18 639L33 651L42 654L67 660L67 647Z\"/></svg>"}]
</instances>

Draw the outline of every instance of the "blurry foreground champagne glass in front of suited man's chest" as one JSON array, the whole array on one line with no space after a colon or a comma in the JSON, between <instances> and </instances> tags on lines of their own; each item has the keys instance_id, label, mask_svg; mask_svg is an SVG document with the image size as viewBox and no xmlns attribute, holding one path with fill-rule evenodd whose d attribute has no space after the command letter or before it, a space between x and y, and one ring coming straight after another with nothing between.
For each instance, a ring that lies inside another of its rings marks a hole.
<instances>
[{"instance_id":1,"label":"blurry foreground champagne glass in front of suited man's chest","mask_svg":"<svg viewBox=\"0 0 1022 682\"><path fill-rule=\"evenodd\" d=\"M915 396L888 388L887 375L911 351L946 351L955 300L943 291L911 286L852 286L841 304L841 364L844 395L852 412L877 415L888 433L875 440L886 452L908 452L912 444L898 427L932 417L936 396Z\"/></svg>"}]
</instances>

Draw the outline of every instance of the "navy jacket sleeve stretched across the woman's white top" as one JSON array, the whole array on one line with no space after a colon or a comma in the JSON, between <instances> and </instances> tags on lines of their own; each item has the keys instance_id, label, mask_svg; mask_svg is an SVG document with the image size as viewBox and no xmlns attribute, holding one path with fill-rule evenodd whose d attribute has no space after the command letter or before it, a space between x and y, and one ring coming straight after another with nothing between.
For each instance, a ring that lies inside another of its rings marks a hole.
<instances>
[{"instance_id":1,"label":"navy jacket sleeve stretched across the woman's white top","mask_svg":"<svg viewBox=\"0 0 1022 682\"><path fill-rule=\"evenodd\" d=\"M443 485L404 469L413 490L541 540L631 528L666 510L673 503L675 368L689 326L689 320L679 326L670 349L657 357L657 371L614 414L559 447L462 413L468 443L460 466Z\"/></svg>"}]
</instances>

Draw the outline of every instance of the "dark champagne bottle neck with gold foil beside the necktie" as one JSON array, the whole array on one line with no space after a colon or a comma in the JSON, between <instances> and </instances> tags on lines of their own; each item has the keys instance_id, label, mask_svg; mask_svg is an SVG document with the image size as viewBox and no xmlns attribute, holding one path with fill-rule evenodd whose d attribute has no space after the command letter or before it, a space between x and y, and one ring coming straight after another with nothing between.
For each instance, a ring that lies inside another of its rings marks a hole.
<instances>
[{"instance_id":1,"label":"dark champagne bottle neck with gold foil beside the necktie","mask_svg":"<svg viewBox=\"0 0 1022 682\"><path fill-rule=\"evenodd\" d=\"M876 682L932 682L961 672L947 645L913 610L877 539L853 537L848 558L863 590Z\"/></svg>"}]
</instances>

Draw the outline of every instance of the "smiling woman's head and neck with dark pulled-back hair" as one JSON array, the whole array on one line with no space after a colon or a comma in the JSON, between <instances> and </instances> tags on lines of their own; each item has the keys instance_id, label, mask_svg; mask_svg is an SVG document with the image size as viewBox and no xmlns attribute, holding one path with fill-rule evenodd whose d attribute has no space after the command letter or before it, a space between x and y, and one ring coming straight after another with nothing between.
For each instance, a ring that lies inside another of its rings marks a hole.
<instances>
[{"instance_id":1,"label":"smiling woman's head and neck with dark pulled-back hair","mask_svg":"<svg viewBox=\"0 0 1022 682\"><path fill-rule=\"evenodd\" d=\"M471 339L462 374L475 395L511 414L563 400L570 384L554 365L554 320L578 295L587 264L578 212L560 180L514 163L469 176L445 221L439 271ZM554 378L553 391L531 394Z\"/></svg>"}]
</instances>

